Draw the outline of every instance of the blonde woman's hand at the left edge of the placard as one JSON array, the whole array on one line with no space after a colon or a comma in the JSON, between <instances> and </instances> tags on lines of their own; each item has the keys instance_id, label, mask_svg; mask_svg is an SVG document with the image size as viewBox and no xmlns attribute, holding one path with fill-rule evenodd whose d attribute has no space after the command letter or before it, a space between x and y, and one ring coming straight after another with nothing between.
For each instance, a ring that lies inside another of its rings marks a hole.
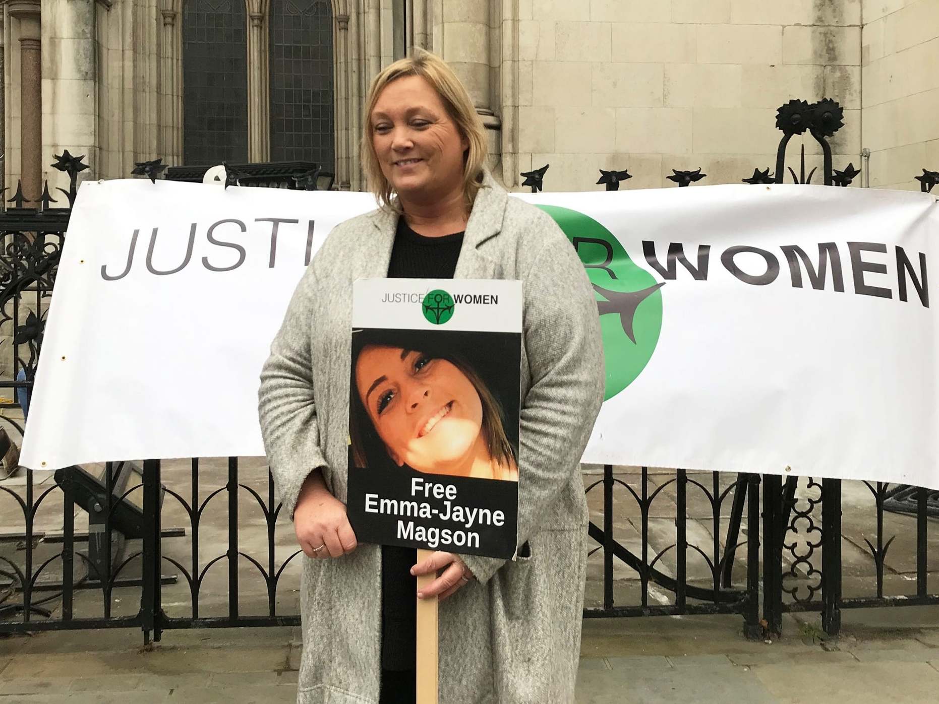
<instances>
[{"instance_id":1,"label":"blonde woman's hand at the left edge of the placard","mask_svg":"<svg viewBox=\"0 0 939 704\"><path fill-rule=\"evenodd\" d=\"M308 558L341 558L358 544L346 516L346 504L332 496L318 469L300 487L294 530Z\"/></svg>"}]
</instances>

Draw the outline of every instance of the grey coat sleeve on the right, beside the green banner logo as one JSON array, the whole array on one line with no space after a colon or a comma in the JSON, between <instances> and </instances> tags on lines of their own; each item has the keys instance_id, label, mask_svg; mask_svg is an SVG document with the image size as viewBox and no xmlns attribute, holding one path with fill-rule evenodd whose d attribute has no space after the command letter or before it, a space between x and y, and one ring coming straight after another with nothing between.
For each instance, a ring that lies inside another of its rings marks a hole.
<instances>
[{"instance_id":1,"label":"grey coat sleeve on the right, beside the green banner logo","mask_svg":"<svg viewBox=\"0 0 939 704\"><path fill-rule=\"evenodd\" d=\"M519 545L543 528L562 488L579 473L605 384L600 319L587 272L553 221L538 224L558 237L546 242L522 283L531 387L519 426ZM460 557L481 582L505 562Z\"/></svg>"}]
</instances>

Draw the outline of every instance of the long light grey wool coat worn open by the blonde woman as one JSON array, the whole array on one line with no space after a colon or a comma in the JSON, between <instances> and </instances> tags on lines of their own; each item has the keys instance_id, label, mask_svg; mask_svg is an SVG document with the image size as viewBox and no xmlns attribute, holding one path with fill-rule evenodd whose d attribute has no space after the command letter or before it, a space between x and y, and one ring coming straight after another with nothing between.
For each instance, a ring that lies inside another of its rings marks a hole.
<instances>
[{"instance_id":1,"label":"long light grey wool coat worn open by the blonde woman","mask_svg":"<svg viewBox=\"0 0 939 704\"><path fill-rule=\"evenodd\" d=\"M346 500L352 282L387 273L397 216L375 210L339 224L304 273L261 373L259 413L288 515L319 467ZM457 279L520 279L518 544L530 558L467 556L474 581L440 605L443 704L574 701L586 564L579 459L603 399L593 291L574 248L536 207L485 175ZM307 559L300 587L300 704L378 700L380 550Z\"/></svg>"}]
</instances>

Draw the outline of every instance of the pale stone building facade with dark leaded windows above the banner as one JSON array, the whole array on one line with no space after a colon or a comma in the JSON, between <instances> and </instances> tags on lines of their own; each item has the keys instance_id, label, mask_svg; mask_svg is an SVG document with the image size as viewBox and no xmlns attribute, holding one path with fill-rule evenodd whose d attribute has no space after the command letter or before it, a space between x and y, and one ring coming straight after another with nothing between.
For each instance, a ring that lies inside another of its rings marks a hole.
<instances>
[{"instance_id":1,"label":"pale stone building facade with dark leaded windows above the banner","mask_svg":"<svg viewBox=\"0 0 939 704\"><path fill-rule=\"evenodd\" d=\"M2 39L5 185L33 198L63 148L86 178L300 159L361 189L368 82L412 47L454 66L513 189L545 163L548 191L739 182L793 98L845 108L854 185L939 168L939 0L5 0Z\"/></svg>"}]
</instances>

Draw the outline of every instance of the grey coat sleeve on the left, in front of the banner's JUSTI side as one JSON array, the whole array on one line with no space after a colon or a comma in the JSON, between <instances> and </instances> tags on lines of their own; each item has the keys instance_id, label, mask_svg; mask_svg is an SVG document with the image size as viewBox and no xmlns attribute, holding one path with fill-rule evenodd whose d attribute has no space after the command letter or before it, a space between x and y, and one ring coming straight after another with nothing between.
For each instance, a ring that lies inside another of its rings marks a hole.
<instances>
[{"instance_id":1,"label":"grey coat sleeve on the left, in front of the banner's JUSTI side","mask_svg":"<svg viewBox=\"0 0 939 704\"><path fill-rule=\"evenodd\" d=\"M261 370L258 416L270 471L287 515L293 518L300 486L315 469L331 486L319 445L313 380L314 265L307 267L287 306L284 323Z\"/></svg>"}]
</instances>

